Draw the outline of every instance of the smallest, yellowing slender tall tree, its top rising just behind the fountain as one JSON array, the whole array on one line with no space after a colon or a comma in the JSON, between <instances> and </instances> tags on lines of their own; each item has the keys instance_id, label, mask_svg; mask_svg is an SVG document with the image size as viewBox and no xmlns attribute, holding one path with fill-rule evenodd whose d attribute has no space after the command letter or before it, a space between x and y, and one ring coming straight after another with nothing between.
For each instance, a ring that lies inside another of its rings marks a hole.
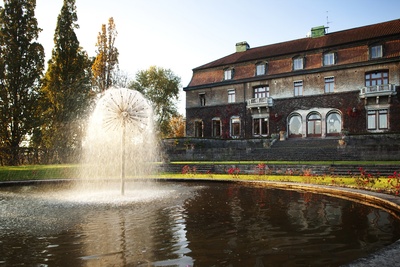
<instances>
[{"instance_id":1,"label":"smallest, yellowing slender tall tree, its top rising just behind the fountain","mask_svg":"<svg viewBox=\"0 0 400 267\"><path fill-rule=\"evenodd\" d=\"M108 19L108 26L101 26L97 36L97 56L92 65L93 84L98 92L103 92L114 85L114 73L118 69L118 49L115 47L117 30L114 19Z\"/></svg>"}]
</instances>

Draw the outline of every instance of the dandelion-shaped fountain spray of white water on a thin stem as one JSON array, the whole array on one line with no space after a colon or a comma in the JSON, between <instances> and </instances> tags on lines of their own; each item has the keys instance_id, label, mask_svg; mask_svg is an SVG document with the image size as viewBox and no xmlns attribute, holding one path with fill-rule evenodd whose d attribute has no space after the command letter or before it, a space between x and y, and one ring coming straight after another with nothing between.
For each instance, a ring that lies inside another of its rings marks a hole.
<instances>
[{"instance_id":1,"label":"dandelion-shaped fountain spray of white water on a thin stem","mask_svg":"<svg viewBox=\"0 0 400 267\"><path fill-rule=\"evenodd\" d=\"M152 109L143 95L126 88L108 89L89 120L80 177L114 178L120 166L124 195L127 174L147 174L157 154L155 143Z\"/></svg>"}]
</instances>

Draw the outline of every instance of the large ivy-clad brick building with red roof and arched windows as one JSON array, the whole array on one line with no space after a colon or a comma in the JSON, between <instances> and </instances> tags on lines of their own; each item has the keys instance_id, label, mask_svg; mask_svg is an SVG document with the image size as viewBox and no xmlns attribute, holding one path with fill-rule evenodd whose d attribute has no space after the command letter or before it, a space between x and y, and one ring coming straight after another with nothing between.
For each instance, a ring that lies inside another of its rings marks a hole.
<instances>
[{"instance_id":1,"label":"large ivy-clad brick building with red roof and arched windows","mask_svg":"<svg viewBox=\"0 0 400 267\"><path fill-rule=\"evenodd\" d=\"M400 132L400 19L250 48L193 69L190 137Z\"/></svg>"}]
</instances>

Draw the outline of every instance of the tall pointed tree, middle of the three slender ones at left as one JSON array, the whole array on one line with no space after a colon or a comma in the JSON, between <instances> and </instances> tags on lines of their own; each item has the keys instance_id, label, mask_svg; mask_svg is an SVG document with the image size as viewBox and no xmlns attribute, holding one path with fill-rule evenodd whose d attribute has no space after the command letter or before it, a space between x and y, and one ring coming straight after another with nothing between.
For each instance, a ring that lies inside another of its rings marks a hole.
<instances>
[{"instance_id":1,"label":"tall pointed tree, middle of the three slender ones at left","mask_svg":"<svg viewBox=\"0 0 400 267\"><path fill-rule=\"evenodd\" d=\"M42 115L35 140L52 151L52 160L68 162L81 148L83 118L90 100L90 61L79 46L75 0L64 0L54 34L54 48L43 79Z\"/></svg>"}]
</instances>

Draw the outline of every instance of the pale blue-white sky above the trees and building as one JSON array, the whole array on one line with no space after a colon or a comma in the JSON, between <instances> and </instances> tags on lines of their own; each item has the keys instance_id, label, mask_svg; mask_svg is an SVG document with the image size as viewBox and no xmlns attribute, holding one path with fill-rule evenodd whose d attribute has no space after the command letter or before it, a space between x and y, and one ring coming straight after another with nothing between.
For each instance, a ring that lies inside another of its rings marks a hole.
<instances>
[{"instance_id":1,"label":"pale blue-white sky above the trees and building","mask_svg":"<svg viewBox=\"0 0 400 267\"><path fill-rule=\"evenodd\" d=\"M36 0L46 62L62 5ZM400 18L398 0L76 0L76 7L88 55L96 55L101 25L113 17L120 69L132 79L153 65L172 70L181 78L183 115L192 69L234 53L238 42L258 47L304 38L316 26L337 32Z\"/></svg>"}]
</instances>

